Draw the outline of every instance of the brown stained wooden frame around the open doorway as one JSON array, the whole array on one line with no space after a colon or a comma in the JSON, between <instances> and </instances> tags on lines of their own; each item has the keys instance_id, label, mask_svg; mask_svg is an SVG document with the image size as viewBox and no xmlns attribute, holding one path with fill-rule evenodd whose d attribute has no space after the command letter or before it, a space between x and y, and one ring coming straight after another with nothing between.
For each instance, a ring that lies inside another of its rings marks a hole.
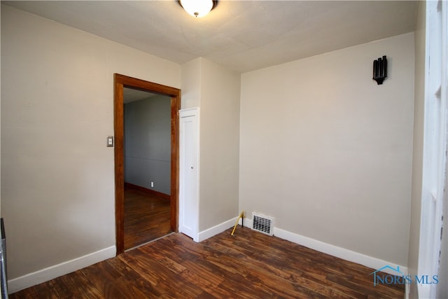
<instances>
[{"instance_id":1,"label":"brown stained wooden frame around the open doorway","mask_svg":"<svg viewBox=\"0 0 448 299\"><path fill-rule=\"evenodd\" d=\"M113 75L113 129L115 134L115 218L117 256L125 252L125 169L123 88L132 88L171 97L171 230L178 230L179 217L179 110L181 90L120 74Z\"/></svg>"}]
</instances>

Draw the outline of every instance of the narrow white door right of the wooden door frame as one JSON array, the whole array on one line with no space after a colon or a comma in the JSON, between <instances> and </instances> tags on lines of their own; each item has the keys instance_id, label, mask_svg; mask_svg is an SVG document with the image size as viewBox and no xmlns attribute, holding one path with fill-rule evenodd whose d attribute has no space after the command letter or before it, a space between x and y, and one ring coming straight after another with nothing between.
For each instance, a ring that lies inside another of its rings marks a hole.
<instances>
[{"instance_id":1,"label":"narrow white door right of the wooden door frame","mask_svg":"<svg viewBox=\"0 0 448 299\"><path fill-rule=\"evenodd\" d=\"M179 116L179 232L198 242L199 108L183 109Z\"/></svg>"}]
</instances>

